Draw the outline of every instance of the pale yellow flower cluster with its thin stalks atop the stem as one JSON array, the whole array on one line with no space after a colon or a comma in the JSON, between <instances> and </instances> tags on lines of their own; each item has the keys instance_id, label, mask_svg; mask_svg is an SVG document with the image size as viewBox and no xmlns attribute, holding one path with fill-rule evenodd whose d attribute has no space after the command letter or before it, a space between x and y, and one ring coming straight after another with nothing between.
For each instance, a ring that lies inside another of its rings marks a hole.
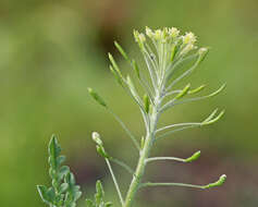
<instances>
[{"instance_id":1,"label":"pale yellow flower cluster with its thin stalks atop the stem","mask_svg":"<svg viewBox=\"0 0 258 207\"><path fill-rule=\"evenodd\" d=\"M146 27L145 34L134 31L134 37L150 70L155 87L165 85L171 78L171 73L175 71L174 69L185 60L197 59L195 64L197 66L208 52L207 48L197 50L194 33L181 35L175 27L155 31ZM149 38L152 46L149 45L146 37Z\"/></svg>"}]
</instances>

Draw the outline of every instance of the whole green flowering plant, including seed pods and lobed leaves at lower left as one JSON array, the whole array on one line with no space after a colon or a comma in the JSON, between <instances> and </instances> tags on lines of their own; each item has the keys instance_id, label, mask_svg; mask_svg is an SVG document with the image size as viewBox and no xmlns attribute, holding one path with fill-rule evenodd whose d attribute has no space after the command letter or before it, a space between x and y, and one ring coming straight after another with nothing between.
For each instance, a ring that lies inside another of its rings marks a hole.
<instances>
[{"instance_id":1,"label":"whole green flowering plant, including seed pods and lobed leaves at lower left","mask_svg":"<svg viewBox=\"0 0 258 207\"><path fill-rule=\"evenodd\" d=\"M109 59L111 62L110 71L114 75L118 83L132 97L132 99L136 102L136 105L139 108L143 121L145 123L145 134L142 137L142 139L139 141L133 135L133 133L125 126L122 120L109 108L108 104L103 100L101 96L99 96L94 89L88 88L90 96L100 106L107 109L125 130L128 137L132 139L133 144L135 145L136 149L139 153L137 166L135 170L133 170L126 163L110 156L105 150L103 142L100 135L97 132L93 133L93 139L96 143L97 151L105 158L108 168L110 170L115 190L118 192L121 202L121 206L122 207L133 206L135 195L142 187L171 185L171 186L184 186L184 187L206 190L222 185L226 178L224 174L221 175L218 181L206 185L185 184L185 183L142 182L143 176L145 174L146 166L149 162L158 160L192 162L198 159L200 156L200 151L198 150L197 153L193 154L193 156L186 159L176 157L150 157L151 149L152 147L155 147L156 142L158 142L163 137L167 137L168 135L171 135L173 133L186 129L199 127L212 124L217 122L224 114L224 111L222 110L221 112L218 113L218 109L216 109L200 122L175 123L158 127L160 115L176 105L183 105L213 97L223 90L225 84L223 84L219 89L209 95L198 97L195 97L195 95L204 90L206 85L192 88L191 84L187 84L185 87L181 89L175 88L176 84L180 83L184 77L188 76L204 61L204 59L208 53L208 48L198 48L196 46L196 36L193 33L186 33L185 35L180 35L180 31L175 27L172 28L165 27L156 31L151 31L150 28L146 27L146 35L137 31L134 31L134 38L138 44L139 50L145 60L147 72L144 71L143 69L139 69L136 61L134 59L131 60L127 53L124 51L124 49L116 41L114 42L114 45L120 51L120 53L123 56L123 58L126 61L128 61L132 69L134 70L135 76L138 80L142 89L145 92L143 95L139 94L139 89L137 89L134 82L128 75L124 77L119 65L116 64L115 60L110 53ZM53 143L57 143L56 139ZM71 186L72 188L74 188L74 192L69 190L70 186L69 181L71 179L69 180L66 178L72 176L72 173L67 170L67 168L65 172L61 173L62 168L60 168L60 163L58 160L63 159L58 157L59 156L58 153L54 153L53 155L50 150L50 159L49 159L51 167L50 175L53 180L52 182L53 186L50 187L50 190L47 190L46 187L42 186L38 186L39 193L42 199L52 207L75 206L75 202L81 195L78 187L76 187L74 179L72 179L73 184ZM53 165L51 161L54 159L57 159L56 160L57 165ZM112 170L111 162L120 165L125 170L127 170L128 173L132 174L132 181L127 188L125 197L122 195L120 191L120 186ZM61 175L59 175L59 173L61 173ZM60 179L57 180L56 178ZM64 183L61 184L62 180L64 180ZM52 203L49 202L50 198L48 198L47 196L48 194L52 195L54 202ZM88 199L87 200L88 207L100 207L111 205L110 203L103 202L102 187L99 182L97 184L96 195L97 197L101 198L98 199L96 198L95 202ZM71 197L69 199L71 202L66 202L67 197Z\"/></svg>"}]
</instances>

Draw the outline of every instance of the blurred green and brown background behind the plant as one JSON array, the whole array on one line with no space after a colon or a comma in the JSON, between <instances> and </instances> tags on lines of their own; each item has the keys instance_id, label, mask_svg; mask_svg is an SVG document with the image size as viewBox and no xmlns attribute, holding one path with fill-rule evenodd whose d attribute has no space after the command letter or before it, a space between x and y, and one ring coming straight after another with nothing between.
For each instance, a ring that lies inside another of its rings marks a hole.
<instances>
[{"instance_id":1,"label":"blurred green and brown background behind the plant","mask_svg":"<svg viewBox=\"0 0 258 207\"><path fill-rule=\"evenodd\" d=\"M96 88L135 135L143 134L137 107L118 87L108 70L113 52L122 72L130 68L113 47L116 39L139 59L132 31L146 25L192 31L211 51L192 76L193 84L222 83L220 96L176 107L160 122L198 121L216 107L225 117L212 126L177 133L160 141L157 156L188 157L194 163L159 162L146 180L208 183L228 174L225 185L210 191L153 187L140 191L137 205L256 207L258 204L258 1L257 0L1 0L0 1L0 204L9 207L45 206L36 184L49 183L47 144L59 136L66 163L93 196L97 179L107 199L118 197L90 133L102 134L106 148L132 166L137 153L107 111L87 95ZM114 167L123 192L130 176ZM81 206L84 206L82 198Z\"/></svg>"}]
</instances>

